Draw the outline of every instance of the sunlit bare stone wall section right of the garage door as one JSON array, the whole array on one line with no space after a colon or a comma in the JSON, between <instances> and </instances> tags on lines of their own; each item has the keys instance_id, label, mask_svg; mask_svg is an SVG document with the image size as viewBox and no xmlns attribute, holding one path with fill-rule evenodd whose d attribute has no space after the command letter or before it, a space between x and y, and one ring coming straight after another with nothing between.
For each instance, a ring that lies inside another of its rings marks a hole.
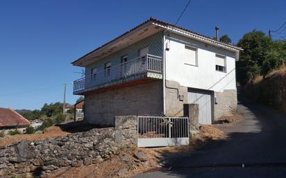
<instances>
[{"instance_id":1,"label":"sunlit bare stone wall section right of the garage door","mask_svg":"<svg viewBox=\"0 0 286 178\"><path fill-rule=\"evenodd\" d=\"M229 89L223 92L214 92L214 119L221 116L230 116L237 110L237 90Z\"/></svg>"}]
</instances>

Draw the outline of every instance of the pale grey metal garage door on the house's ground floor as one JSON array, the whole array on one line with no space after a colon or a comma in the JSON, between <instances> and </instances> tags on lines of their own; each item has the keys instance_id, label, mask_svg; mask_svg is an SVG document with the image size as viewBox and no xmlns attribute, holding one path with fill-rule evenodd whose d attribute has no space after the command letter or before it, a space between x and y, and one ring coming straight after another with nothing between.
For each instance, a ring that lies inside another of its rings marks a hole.
<instances>
[{"instance_id":1,"label":"pale grey metal garage door on the house's ground floor","mask_svg":"<svg viewBox=\"0 0 286 178\"><path fill-rule=\"evenodd\" d=\"M189 90L187 93L189 104L199 104L199 123L212 124L212 102L208 91Z\"/></svg>"}]
</instances>

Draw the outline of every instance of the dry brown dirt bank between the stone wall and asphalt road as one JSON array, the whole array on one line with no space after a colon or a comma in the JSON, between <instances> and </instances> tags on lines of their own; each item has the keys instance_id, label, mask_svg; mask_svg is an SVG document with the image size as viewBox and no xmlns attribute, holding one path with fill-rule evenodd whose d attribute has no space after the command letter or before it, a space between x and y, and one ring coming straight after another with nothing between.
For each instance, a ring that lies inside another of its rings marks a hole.
<instances>
[{"instance_id":1,"label":"dry brown dirt bank between the stone wall and asphalt road","mask_svg":"<svg viewBox=\"0 0 286 178\"><path fill-rule=\"evenodd\" d=\"M79 168L62 168L56 172L50 173L47 178L132 177L142 172L162 169L159 166L160 161L168 155L171 156L178 152L192 154L201 146L220 139L226 139L224 132L221 132L221 130L210 125L202 125L200 134L194 136L194 138L190 140L189 145L169 148L128 148L122 150L108 161ZM137 163L134 160L128 162L121 160L121 158L126 155L133 157L133 152L135 152L135 150L144 152L148 157L148 161ZM117 172L124 168L127 168L128 171L124 175L117 175Z\"/></svg>"}]
</instances>

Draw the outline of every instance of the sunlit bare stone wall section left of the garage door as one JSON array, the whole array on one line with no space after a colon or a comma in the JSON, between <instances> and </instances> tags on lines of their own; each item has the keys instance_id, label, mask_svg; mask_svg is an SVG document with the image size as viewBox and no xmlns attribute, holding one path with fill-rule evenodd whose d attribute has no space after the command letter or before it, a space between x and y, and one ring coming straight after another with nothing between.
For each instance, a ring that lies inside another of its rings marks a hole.
<instances>
[{"instance_id":1,"label":"sunlit bare stone wall section left of the garage door","mask_svg":"<svg viewBox=\"0 0 286 178\"><path fill-rule=\"evenodd\" d=\"M166 81L165 99L166 99L166 116L183 116L183 105L187 104L187 87L182 87L178 82ZM176 88L176 89L171 89ZM178 91L177 91L178 89ZM183 94L184 99L179 100L178 94Z\"/></svg>"}]
</instances>

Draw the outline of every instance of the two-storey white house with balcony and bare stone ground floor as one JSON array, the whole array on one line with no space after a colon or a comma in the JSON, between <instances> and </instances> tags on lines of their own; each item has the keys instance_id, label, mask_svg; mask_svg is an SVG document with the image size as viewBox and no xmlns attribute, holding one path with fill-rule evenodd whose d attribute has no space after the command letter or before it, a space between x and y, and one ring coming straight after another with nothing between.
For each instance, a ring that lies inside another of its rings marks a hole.
<instances>
[{"instance_id":1,"label":"two-storey white house with balcony and bare stone ground floor","mask_svg":"<svg viewBox=\"0 0 286 178\"><path fill-rule=\"evenodd\" d=\"M149 19L72 62L85 67L74 94L85 96L85 121L112 125L114 116L183 116L199 104L211 124L237 109L235 61L241 48Z\"/></svg>"}]
</instances>

